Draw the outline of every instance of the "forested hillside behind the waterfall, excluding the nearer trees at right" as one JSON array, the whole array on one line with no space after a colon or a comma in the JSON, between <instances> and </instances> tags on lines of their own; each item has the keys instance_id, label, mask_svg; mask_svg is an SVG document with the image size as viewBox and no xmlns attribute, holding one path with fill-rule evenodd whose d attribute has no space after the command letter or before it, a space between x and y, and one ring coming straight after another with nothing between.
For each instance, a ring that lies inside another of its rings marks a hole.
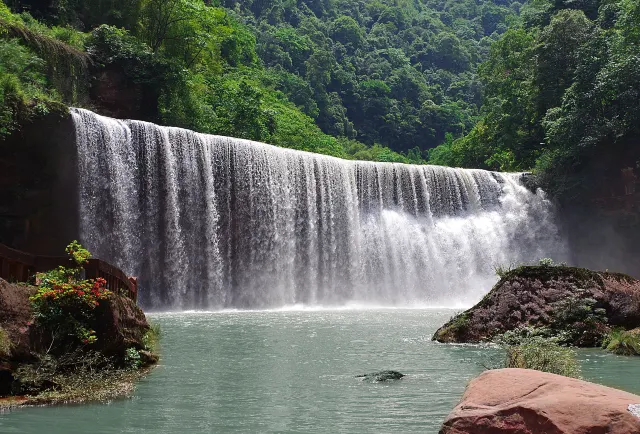
<instances>
[{"instance_id":1,"label":"forested hillside behind the waterfall, excluding the nearer trees at right","mask_svg":"<svg viewBox=\"0 0 640 434\"><path fill-rule=\"evenodd\" d=\"M32 112L24 106L46 112L60 101L345 158L422 163L425 150L473 127L477 65L520 6L5 0L1 132ZM101 93L114 87L135 100L114 106Z\"/></svg>"}]
</instances>

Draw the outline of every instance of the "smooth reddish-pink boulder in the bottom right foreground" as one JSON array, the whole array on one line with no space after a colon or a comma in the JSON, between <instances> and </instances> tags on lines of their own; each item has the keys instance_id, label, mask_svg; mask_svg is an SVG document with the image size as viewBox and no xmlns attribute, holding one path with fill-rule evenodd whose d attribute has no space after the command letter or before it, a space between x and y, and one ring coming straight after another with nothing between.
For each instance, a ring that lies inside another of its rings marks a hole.
<instances>
[{"instance_id":1,"label":"smooth reddish-pink boulder in the bottom right foreground","mask_svg":"<svg viewBox=\"0 0 640 434\"><path fill-rule=\"evenodd\" d=\"M528 369L472 380L440 434L640 433L640 396Z\"/></svg>"}]
</instances>

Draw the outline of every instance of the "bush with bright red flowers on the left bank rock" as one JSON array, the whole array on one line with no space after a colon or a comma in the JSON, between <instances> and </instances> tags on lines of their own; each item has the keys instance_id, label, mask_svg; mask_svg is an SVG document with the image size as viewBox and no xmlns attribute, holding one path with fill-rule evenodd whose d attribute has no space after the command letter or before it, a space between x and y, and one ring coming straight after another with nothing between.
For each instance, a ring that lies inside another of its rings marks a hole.
<instances>
[{"instance_id":1,"label":"bush with bright red flowers on the left bank rock","mask_svg":"<svg viewBox=\"0 0 640 434\"><path fill-rule=\"evenodd\" d=\"M92 344L97 340L95 331L88 325L93 310L111 292L102 278L80 279L82 264L91 254L77 241L69 244L67 253L74 259L76 267L58 267L38 273L38 290L30 297L31 305L39 325L56 330L59 337L74 336L83 344Z\"/></svg>"}]
</instances>

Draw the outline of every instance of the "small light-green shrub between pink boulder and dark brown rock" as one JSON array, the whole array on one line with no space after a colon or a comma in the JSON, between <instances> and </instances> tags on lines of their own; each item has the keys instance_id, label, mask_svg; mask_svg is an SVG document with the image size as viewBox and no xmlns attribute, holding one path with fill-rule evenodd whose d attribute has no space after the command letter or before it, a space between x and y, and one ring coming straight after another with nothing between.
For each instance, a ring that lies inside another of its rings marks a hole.
<instances>
[{"instance_id":1,"label":"small light-green shrub between pink boulder and dark brown rock","mask_svg":"<svg viewBox=\"0 0 640 434\"><path fill-rule=\"evenodd\" d=\"M535 369L565 377L580 377L575 351L560 346L554 339L536 336L520 345L508 346L506 350L507 368Z\"/></svg>"}]
</instances>

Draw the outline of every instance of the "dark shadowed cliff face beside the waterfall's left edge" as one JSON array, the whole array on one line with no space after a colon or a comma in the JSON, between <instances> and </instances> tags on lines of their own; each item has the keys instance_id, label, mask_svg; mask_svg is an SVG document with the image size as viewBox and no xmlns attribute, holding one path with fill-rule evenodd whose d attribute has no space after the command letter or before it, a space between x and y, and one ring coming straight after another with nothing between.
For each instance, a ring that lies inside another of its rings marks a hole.
<instances>
[{"instance_id":1,"label":"dark shadowed cliff face beside the waterfall's left edge","mask_svg":"<svg viewBox=\"0 0 640 434\"><path fill-rule=\"evenodd\" d=\"M75 127L65 106L28 111L0 138L0 243L57 255L80 232Z\"/></svg>"}]
</instances>

